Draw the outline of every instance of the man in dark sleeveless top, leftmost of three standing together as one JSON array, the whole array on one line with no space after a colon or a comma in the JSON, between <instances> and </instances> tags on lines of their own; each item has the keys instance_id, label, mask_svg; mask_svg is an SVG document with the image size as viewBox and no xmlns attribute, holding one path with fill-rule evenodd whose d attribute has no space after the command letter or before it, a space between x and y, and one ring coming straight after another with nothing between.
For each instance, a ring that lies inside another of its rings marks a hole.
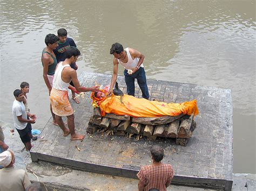
<instances>
[{"instance_id":1,"label":"man in dark sleeveless top, leftmost of three standing together","mask_svg":"<svg viewBox=\"0 0 256 191\"><path fill-rule=\"evenodd\" d=\"M51 94L52 81L55 74L55 68L57 66L57 59L53 53L53 49L58 46L59 38L55 34L47 34L45 37L46 48L42 52L42 64L43 64L43 77L44 82L49 90L49 95ZM57 125L55 114L52 112L52 107L50 104L50 111L52 115L52 124Z\"/></svg>"}]
</instances>

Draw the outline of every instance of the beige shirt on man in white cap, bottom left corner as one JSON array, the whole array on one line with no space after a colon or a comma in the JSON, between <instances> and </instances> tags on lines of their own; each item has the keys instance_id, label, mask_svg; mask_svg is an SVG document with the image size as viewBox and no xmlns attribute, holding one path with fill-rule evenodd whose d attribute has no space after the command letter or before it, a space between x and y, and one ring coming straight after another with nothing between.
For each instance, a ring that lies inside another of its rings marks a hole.
<instances>
[{"instance_id":1,"label":"beige shirt on man in white cap, bottom left corner","mask_svg":"<svg viewBox=\"0 0 256 191\"><path fill-rule=\"evenodd\" d=\"M10 167L0 170L0 191L25 190L30 184L28 175L23 169Z\"/></svg>"}]
</instances>

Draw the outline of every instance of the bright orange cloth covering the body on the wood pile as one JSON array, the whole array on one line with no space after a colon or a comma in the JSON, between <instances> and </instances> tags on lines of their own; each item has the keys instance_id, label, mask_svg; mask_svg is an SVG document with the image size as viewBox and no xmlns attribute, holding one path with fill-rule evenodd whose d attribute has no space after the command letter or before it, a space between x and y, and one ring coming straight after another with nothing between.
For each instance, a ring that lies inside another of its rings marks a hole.
<instances>
[{"instance_id":1,"label":"bright orange cloth covering the body on the wood pile","mask_svg":"<svg viewBox=\"0 0 256 191\"><path fill-rule=\"evenodd\" d=\"M112 113L116 115L129 115L131 117L159 117L159 116L178 116L187 114L194 116L199 114L197 100L183 103L164 103L149 101L144 98L136 98L130 95L124 95L120 101L120 96L112 95L106 98L99 105L102 115Z\"/></svg>"}]
</instances>

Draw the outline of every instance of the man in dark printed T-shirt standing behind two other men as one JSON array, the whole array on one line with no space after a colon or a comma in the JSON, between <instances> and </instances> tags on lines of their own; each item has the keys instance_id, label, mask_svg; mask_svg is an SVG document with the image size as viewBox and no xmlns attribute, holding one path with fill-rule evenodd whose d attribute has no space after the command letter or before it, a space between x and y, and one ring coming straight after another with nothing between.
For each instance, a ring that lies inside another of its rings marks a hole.
<instances>
[{"instance_id":1,"label":"man in dark printed T-shirt standing behind two other men","mask_svg":"<svg viewBox=\"0 0 256 191\"><path fill-rule=\"evenodd\" d=\"M57 33L58 33L59 41L58 41L58 47L54 50L54 53L56 54L57 62L61 62L61 61L64 61L66 59L66 50L70 46L77 47L77 45L73 41L72 38L68 37L68 32L65 29L59 29ZM75 70L78 69L78 66L77 66L76 63L72 63L70 65L70 67L75 69ZM74 86L72 81L70 82L70 85ZM73 90L71 90L71 91L72 91L72 99L76 103L80 103L79 99L76 98L76 93Z\"/></svg>"}]
</instances>

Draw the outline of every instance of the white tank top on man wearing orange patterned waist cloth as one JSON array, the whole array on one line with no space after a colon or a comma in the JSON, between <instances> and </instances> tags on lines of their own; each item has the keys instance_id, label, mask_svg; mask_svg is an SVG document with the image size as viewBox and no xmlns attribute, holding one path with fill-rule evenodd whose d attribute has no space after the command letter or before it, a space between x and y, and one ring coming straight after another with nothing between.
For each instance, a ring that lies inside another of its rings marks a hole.
<instances>
[{"instance_id":1,"label":"white tank top on man wearing orange patterned waist cloth","mask_svg":"<svg viewBox=\"0 0 256 191\"><path fill-rule=\"evenodd\" d=\"M55 88L55 89L58 89L58 90L68 91L68 87L69 87L70 82L66 83L62 80L62 70L65 67L70 67L70 65L62 65L62 63L63 62L59 62L58 66L55 70L52 87Z\"/></svg>"}]
</instances>

